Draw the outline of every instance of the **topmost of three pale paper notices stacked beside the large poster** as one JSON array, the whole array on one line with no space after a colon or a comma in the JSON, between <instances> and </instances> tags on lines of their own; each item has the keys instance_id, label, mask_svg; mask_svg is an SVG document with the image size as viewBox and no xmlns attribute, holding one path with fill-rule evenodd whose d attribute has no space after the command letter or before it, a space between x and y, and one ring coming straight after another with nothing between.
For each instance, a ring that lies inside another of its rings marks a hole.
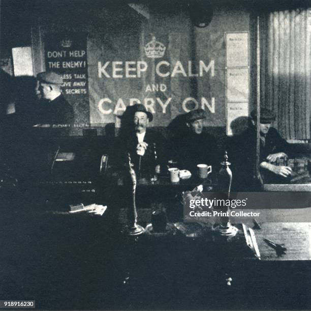
<instances>
[{"instance_id":1,"label":"topmost of three pale paper notices stacked beside the large poster","mask_svg":"<svg viewBox=\"0 0 311 311\"><path fill-rule=\"evenodd\" d=\"M248 66L248 33L226 33L227 67Z\"/></svg>"}]
</instances>

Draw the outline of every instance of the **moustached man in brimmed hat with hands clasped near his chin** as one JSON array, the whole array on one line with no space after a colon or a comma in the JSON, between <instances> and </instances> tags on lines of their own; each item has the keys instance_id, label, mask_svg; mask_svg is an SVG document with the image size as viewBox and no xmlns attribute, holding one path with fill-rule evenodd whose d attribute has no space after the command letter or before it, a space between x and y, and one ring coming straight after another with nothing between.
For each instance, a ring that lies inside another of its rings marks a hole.
<instances>
[{"instance_id":1,"label":"moustached man in brimmed hat with hands clasped near his chin","mask_svg":"<svg viewBox=\"0 0 311 311\"><path fill-rule=\"evenodd\" d=\"M143 104L128 106L121 116L121 128L118 139L121 161L126 161L129 153L134 169L138 172L147 172L154 167L154 146L157 152L157 160L165 163L165 138L159 133L148 128L153 120L151 112L147 111ZM155 145L154 145L155 144Z\"/></svg>"}]
</instances>

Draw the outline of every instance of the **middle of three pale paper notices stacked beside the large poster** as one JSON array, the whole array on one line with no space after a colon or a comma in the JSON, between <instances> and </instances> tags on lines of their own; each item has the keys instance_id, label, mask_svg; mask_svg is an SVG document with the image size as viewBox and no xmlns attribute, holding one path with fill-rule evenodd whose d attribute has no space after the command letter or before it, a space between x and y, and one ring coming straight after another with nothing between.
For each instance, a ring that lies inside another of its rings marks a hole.
<instances>
[{"instance_id":1,"label":"middle of three pale paper notices stacked beside the large poster","mask_svg":"<svg viewBox=\"0 0 311 311\"><path fill-rule=\"evenodd\" d=\"M227 69L227 101L243 102L248 101L248 68Z\"/></svg>"}]
</instances>

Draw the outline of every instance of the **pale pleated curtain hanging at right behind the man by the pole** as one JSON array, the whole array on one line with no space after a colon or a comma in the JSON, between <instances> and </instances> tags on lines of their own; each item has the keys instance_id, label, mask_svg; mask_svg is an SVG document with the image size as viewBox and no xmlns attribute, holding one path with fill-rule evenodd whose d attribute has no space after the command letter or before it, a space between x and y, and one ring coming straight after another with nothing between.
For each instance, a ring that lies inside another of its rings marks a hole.
<instances>
[{"instance_id":1,"label":"pale pleated curtain hanging at right behind the man by the pole","mask_svg":"<svg viewBox=\"0 0 311 311\"><path fill-rule=\"evenodd\" d=\"M310 138L310 34L310 9L260 17L261 106L275 112L287 139Z\"/></svg>"}]
</instances>

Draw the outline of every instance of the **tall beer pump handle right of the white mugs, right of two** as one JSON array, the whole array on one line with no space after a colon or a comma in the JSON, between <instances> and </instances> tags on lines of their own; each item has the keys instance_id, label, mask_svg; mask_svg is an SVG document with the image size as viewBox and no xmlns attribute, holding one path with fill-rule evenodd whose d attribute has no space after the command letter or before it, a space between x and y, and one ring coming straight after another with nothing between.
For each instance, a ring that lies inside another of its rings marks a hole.
<instances>
[{"instance_id":1,"label":"tall beer pump handle right of the white mugs, right of two","mask_svg":"<svg viewBox=\"0 0 311 311\"><path fill-rule=\"evenodd\" d=\"M221 162L222 168L219 171L219 190L221 192L224 192L225 200L230 199L230 191L231 191L231 183L232 183L232 172L229 167L231 165L230 162L228 162L228 154L227 151L225 151L224 155L225 161ZM230 214L230 208L226 209L227 214ZM222 216L221 217L221 224L216 227L216 231L220 233L222 236L235 236L238 232L238 229L234 227L230 223L229 216Z\"/></svg>"}]
</instances>

